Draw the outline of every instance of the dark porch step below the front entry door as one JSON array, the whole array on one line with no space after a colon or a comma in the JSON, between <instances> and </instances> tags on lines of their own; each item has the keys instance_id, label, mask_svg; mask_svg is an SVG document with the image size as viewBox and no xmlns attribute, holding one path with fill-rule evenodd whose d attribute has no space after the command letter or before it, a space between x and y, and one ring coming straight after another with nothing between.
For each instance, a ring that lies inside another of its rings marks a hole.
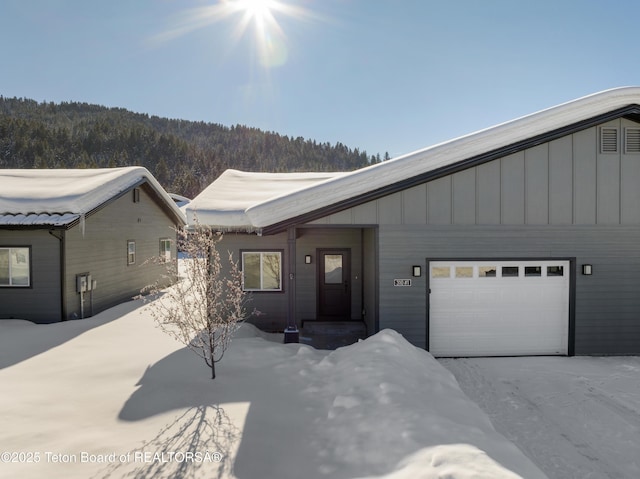
<instances>
[{"instance_id":1,"label":"dark porch step below the front entry door","mask_svg":"<svg viewBox=\"0 0 640 479\"><path fill-rule=\"evenodd\" d=\"M300 342L316 349L337 349L367 337L364 321L303 321Z\"/></svg>"}]
</instances>

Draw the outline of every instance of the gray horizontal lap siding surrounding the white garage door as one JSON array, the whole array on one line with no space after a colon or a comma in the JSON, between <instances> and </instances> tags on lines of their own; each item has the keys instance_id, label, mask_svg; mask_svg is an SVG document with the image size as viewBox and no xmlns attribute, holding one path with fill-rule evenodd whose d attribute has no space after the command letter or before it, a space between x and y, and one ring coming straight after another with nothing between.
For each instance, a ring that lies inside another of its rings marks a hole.
<instances>
[{"instance_id":1,"label":"gray horizontal lap siding surrounding the white garage door","mask_svg":"<svg viewBox=\"0 0 640 479\"><path fill-rule=\"evenodd\" d=\"M640 226L381 226L380 328L426 347L427 274L408 288L426 258L576 257L575 353L640 353Z\"/></svg>"}]
</instances>

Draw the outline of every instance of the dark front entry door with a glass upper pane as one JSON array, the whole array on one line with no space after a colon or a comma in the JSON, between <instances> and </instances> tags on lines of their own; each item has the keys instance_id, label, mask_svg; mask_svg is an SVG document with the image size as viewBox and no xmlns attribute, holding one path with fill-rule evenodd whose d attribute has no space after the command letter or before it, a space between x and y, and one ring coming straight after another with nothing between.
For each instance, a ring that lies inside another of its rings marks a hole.
<instances>
[{"instance_id":1,"label":"dark front entry door with a glass upper pane","mask_svg":"<svg viewBox=\"0 0 640 479\"><path fill-rule=\"evenodd\" d=\"M317 257L318 319L351 319L351 250L321 249Z\"/></svg>"}]
</instances>

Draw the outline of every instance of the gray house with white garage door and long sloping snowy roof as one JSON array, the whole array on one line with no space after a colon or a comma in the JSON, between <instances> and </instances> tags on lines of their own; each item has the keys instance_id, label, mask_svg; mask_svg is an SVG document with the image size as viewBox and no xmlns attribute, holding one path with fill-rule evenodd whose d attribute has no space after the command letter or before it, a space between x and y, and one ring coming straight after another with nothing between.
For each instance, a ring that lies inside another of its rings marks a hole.
<instances>
[{"instance_id":1,"label":"gray house with white garage door and long sloping snowy roof","mask_svg":"<svg viewBox=\"0 0 640 479\"><path fill-rule=\"evenodd\" d=\"M436 356L640 353L640 88L341 174L227 171L225 232L264 329L361 320Z\"/></svg>"}]
</instances>

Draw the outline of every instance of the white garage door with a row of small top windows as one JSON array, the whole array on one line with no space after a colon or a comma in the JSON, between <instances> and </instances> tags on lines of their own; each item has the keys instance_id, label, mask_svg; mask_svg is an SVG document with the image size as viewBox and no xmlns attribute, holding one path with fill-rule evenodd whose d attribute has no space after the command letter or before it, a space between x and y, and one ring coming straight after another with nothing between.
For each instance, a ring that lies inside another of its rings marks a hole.
<instances>
[{"instance_id":1,"label":"white garage door with a row of small top windows","mask_svg":"<svg viewBox=\"0 0 640 479\"><path fill-rule=\"evenodd\" d=\"M431 261L434 356L567 354L568 261Z\"/></svg>"}]
</instances>

